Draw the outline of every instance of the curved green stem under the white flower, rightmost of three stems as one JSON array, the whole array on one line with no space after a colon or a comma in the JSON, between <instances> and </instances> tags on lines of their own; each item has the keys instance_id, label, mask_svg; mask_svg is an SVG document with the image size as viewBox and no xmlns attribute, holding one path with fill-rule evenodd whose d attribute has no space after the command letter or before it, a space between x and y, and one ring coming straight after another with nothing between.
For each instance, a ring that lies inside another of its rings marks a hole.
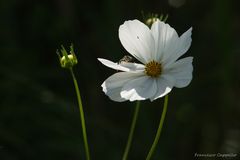
<instances>
[{"instance_id":1,"label":"curved green stem under the white flower, rightmost of three stems","mask_svg":"<svg viewBox=\"0 0 240 160\"><path fill-rule=\"evenodd\" d=\"M166 116L166 113L167 113L167 106L168 106L168 95L166 95L165 98L164 98L163 111L162 111L162 116L161 116L161 119L160 119L159 127L158 127L158 130L157 130L157 134L156 134L156 137L155 137L154 142L152 144L152 147L151 147L151 149L150 149L150 151L147 155L146 160L151 159L151 157L152 157L152 155L153 155L153 153L156 149L158 140L159 140L160 135L161 135L164 119L165 119L165 116Z\"/></svg>"}]
</instances>

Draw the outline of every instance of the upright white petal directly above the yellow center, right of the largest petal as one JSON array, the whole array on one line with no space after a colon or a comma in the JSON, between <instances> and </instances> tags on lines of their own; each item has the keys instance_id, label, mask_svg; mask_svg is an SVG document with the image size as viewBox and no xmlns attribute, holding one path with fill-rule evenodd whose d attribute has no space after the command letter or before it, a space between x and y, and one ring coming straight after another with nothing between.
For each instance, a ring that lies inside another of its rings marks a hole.
<instances>
[{"instance_id":1,"label":"upright white petal directly above the yellow center, right of the largest petal","mask_svg":"<svg viewBox=\"0 0 240 160\"><path fill-rule=\"evenodd\" d=\"M151 31L155 40L155 60L162 63L170 53L176 50L178 34L169 24L159 20L153 23Z\"/></svg>"}]
</instances>

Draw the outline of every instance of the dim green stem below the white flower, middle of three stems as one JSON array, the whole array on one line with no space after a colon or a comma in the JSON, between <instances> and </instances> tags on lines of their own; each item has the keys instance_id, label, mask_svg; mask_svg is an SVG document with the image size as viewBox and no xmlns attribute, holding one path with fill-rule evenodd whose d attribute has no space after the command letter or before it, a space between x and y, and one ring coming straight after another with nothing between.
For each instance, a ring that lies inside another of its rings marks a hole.
<instances>
[{"instance_id":1,"label":"dim green stem below the white flower, middle of three stems","mask_svg":"<svg viewBox=\"0 0 240 160\"><path fill-rule=\"evenodd\" d=\"M128 152L129 152L131 144L132 144L132 138L133 138L133 133L134 133L135 126L136 126L136 121L137 121L137 117L138 117L138 113L139 113L139 108L140 108L140 101L137 101L137 104L136 104L136 107L135 107L135 110L134 110L134 115L133 115L133 120L132 120L132 124L131 124L130 133L128 135L127 145L126 145L122 160L127 160L127 157L128 157Z\"/></svg>"}]
</instances>

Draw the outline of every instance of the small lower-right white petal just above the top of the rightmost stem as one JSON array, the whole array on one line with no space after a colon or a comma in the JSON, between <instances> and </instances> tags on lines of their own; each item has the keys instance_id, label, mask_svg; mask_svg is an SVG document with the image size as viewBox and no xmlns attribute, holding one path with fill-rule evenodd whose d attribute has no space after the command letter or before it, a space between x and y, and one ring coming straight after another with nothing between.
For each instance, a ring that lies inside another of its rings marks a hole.
<instances>
[{"instance_id":1,"label":"small lower-right white petal just above the top of the rightmost stem","mask_svg":"<svg viewBox=\"0 0 240 160\"><path fill-rule=\"evenodd\" d=\"M173 88L175 80L168 75L162 75L157 80L157 93L150 98L151 101L167 95Z\"/></svg>"}]
</instances>

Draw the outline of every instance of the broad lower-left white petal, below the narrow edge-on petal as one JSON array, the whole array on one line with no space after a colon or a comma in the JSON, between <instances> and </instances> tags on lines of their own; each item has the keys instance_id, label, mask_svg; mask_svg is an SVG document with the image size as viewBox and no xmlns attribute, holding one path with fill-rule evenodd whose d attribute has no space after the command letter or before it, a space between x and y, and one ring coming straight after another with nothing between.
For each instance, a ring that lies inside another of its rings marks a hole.
<instances>
[{"instance_id":1,"label":"broad lower-left white petal, below the narrow edge-on petal","mask_svg":"<svg viewBox=\"0 0 240 160\"><path fill-rule=\"evenodd\" d=\"M106 79L102 84L103 92L113 101L123 102L120 92L128 81L142 76L143 73L118 72Z\"/></svg>"}]
</instances>

